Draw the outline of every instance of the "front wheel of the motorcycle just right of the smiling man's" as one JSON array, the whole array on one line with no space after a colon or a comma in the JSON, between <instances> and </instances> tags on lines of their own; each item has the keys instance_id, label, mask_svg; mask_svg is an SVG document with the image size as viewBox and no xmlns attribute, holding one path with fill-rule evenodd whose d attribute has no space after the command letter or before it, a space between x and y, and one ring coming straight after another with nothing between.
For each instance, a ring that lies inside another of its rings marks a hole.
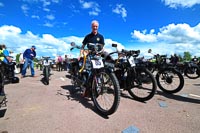
<instances>
[{"instance_id":1,"label":"front wheel of the motorcycle just right of the smiling man's","mask_svg":"<svg viewBox=\"0 0 200 133\"><path fill-rule=\"evenodd\" d=\"M133 74L131 75L133 76ZM154 96L157 83L149 70L136 69L135 78L132 78L132 80L128 92L135 100L144 102Z\"/></svg>"}]
</instances>

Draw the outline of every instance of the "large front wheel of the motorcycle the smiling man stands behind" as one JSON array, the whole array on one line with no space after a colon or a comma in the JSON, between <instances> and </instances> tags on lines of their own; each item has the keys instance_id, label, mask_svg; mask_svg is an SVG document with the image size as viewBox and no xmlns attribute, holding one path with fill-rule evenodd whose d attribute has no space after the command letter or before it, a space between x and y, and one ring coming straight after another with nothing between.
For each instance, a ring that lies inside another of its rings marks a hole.
<instances>
[{"instance_id":1,"label":"large front wheel of the motorcycle the smiling man stands behind","mask_svg":"<svg viewBox=\"0 0 200 133\"><path fill-rule=\"evenodd\" d=\"M103 115L113 114L120 102L120 87L113 73L100 72L93 77L92 100Z\"/></svg>"}]
</instances>

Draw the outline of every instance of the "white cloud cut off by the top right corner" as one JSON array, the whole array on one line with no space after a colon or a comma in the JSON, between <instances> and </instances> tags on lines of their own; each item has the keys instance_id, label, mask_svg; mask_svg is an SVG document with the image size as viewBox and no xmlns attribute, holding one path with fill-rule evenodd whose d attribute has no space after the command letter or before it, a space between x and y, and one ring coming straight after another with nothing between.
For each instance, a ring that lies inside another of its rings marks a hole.
<instances>
[{"instance_id":1,"label":"white cloud cut off by the top right corner","mask_svg":"<svg viewBox=\"0 0 200 133\"><path fill-rule=\"evenodd\" d=\"M162 2L164 2L166 6L175 9L178 7L190 8L196 4L200 4L200 0L162 0Z\"/></svg>"}]
</instances>

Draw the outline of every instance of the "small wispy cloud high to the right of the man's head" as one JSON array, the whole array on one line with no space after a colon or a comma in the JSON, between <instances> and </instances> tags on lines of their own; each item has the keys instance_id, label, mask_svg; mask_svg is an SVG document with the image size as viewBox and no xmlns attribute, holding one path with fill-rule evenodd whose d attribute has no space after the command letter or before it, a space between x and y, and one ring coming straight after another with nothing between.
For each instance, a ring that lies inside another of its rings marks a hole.
<instances>
[{"instance_id":1,"label":"small wispy cloud high to the right of the man's head","mask_svg":"<svg viewBox=\"0 0 200 133\"><path fill-rule=\"evenodd\" d=\"M122 16L122 18L124 19L124 21L126 21L126 17L127 17L127 11L126 9L123 7L122 4L117 4L116 7L112 10L114 13L116 14L120 14Z\"/></svg>"}]
</instances>

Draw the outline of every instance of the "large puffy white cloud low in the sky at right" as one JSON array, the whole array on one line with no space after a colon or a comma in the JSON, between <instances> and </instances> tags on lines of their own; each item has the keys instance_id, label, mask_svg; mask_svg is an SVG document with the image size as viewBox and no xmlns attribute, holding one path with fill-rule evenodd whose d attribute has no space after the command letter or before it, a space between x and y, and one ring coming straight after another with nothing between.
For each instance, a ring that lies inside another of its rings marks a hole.
<instances>
[{"instance_id":1,"label":"large puffy white cloud low in the sky at right","mask_svg":"<svg viewBox=\"0 0 200 133\"><path fill-rule=\"evenodd\" d=\"M195 27L188 24L169 24L159 29L156 34L154 30L146 33L134 30L132 38L140 42L148 43L158 51L166 53L190 51L194 55L200 56L200 23ZM155 44L155 45L154 45Z\"/></svg>"}]
</instances>

